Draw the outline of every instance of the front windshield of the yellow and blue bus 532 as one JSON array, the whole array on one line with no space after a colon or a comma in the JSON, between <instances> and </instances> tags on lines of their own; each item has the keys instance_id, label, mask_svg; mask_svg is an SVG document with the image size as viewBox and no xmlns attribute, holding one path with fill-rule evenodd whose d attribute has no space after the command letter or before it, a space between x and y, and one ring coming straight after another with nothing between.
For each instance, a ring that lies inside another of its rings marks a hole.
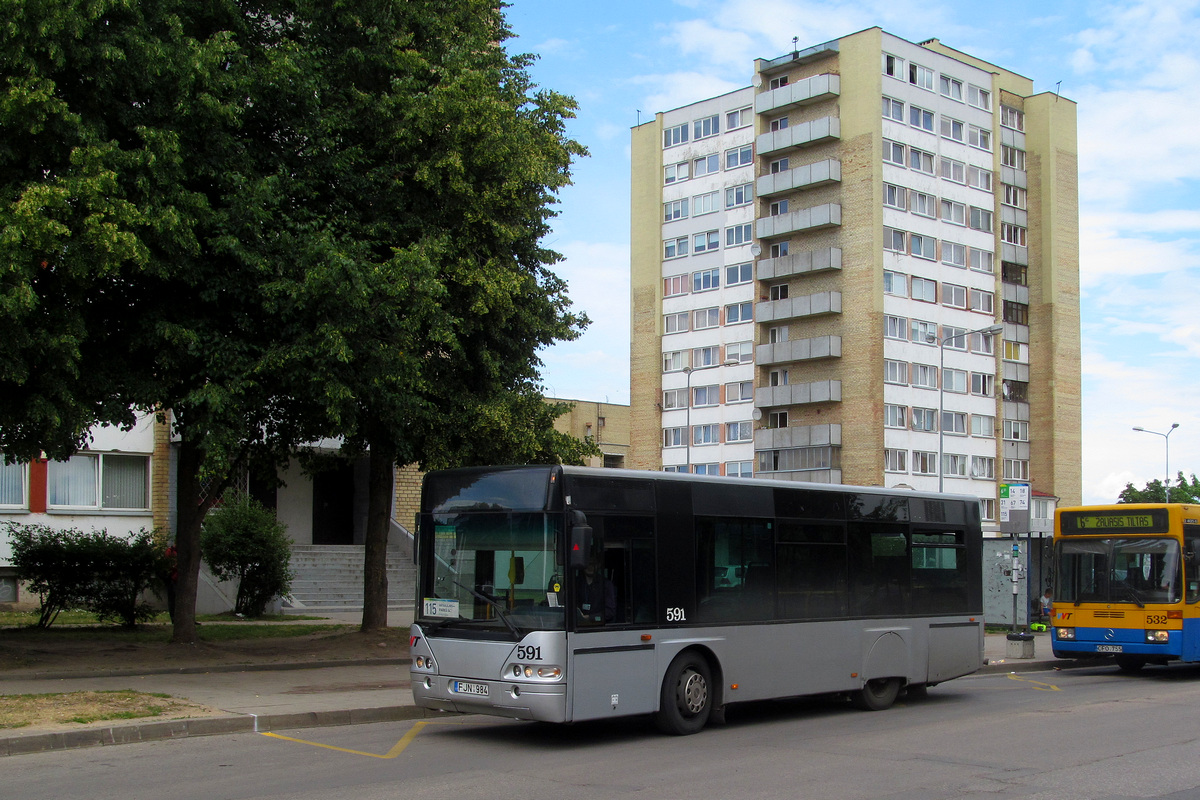
<instances>
[{"instance_id":1,"label":"front windshield of the yellow and blue bus 532","mask_svg":"<svg viewBox=\"0 0 1200 800\"><path fill-rule=\"evenodd\" d=\"M1062 602L1176 603L1180 543L1174 539L1069 539L1058 545Z\"/></svg>"}]
</instances>

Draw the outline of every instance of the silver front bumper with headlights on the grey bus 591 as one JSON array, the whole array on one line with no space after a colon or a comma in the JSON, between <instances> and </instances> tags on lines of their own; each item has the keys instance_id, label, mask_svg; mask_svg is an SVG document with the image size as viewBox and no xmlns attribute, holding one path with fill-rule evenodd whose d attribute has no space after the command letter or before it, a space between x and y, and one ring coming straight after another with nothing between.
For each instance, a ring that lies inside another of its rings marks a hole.
<instances>
[{"instance_id":1,"label":"silver front bumper with headlights on the grey bus 591","mask_svg":"<svg viewBox=\"0 0 1200 800\"><path fill-rule=\"evenodd\" d=\"M539 722L566 721L566 686L563 684L516 684L472 681L487 686L487 696L455 692L456 679L443 675L413 675L413 702L418 708L458 714L486 714L510 720Z\"/></svg>"}]
</instances>

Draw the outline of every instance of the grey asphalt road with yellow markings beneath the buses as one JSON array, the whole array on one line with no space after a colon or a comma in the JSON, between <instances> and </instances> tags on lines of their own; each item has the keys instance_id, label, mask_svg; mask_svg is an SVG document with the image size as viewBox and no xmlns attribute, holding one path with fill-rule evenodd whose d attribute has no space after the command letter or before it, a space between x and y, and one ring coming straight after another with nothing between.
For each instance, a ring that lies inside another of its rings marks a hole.
<instances>
[{"instance_id":1,"label":"grey asphalt road with yellow markings beneath the buses","mask_svg":"<svg viewBox=\"0 0 1200 800\"><path fill-rule=\"evenodd\" d=\"M19 756L0 796L1177 800L1200 798L1196 708L1194 666L997 674L881 712L734 706L684 738L644 721L445 717Z\"/></svg>"}]
</instances>

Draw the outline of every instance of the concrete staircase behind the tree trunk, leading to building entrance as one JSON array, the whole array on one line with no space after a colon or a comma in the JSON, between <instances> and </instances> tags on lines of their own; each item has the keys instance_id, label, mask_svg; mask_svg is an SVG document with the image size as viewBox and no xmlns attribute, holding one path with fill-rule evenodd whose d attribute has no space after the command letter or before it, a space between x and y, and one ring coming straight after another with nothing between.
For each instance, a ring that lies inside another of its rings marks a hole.
<instances>
[{"instance_id":1,"label":"concrete staircase behind the tree trunk, leading to building entrance","mask_svg":"<svg viewBox=\"0 0 1200 800\"><path fill-rule=\"evenodd\" d=\"M284 614L320 614L362 610L361 545L293 545L292 594L283 599ZM388 548L388 608L412 610L416 595L416 567L398 547Z\"/></svg>"}]
</instances>

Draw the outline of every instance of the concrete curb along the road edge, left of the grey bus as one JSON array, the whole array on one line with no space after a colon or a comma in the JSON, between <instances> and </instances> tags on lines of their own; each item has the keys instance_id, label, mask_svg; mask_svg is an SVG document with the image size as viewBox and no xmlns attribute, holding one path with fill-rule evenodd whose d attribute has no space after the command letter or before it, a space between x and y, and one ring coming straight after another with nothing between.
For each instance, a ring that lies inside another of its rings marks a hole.
<instances>
[{"instance_id":1,"label":"concrete curb along the road edge, left of the grey bus","mask_svg":"<svg viewBox=\"0 0 1200 800\"><path fill-rule=\"evenodd\" d=\"M419 720L439 711L427 711L415 705L391 705L374 709L350 709L344 711L305 711L298 714L232 715L200 720L169 720L160 722L134 722L131 724L104 726L62 733L31 733L29 735L0 736L0 758L44 753L79 747L107 745L132 745L166 739L190 739L215 736L227 733L266 733L270 730L294 730L298 728L325 728L371 722L400 722Z\"/></svg>"}]
</instances>

